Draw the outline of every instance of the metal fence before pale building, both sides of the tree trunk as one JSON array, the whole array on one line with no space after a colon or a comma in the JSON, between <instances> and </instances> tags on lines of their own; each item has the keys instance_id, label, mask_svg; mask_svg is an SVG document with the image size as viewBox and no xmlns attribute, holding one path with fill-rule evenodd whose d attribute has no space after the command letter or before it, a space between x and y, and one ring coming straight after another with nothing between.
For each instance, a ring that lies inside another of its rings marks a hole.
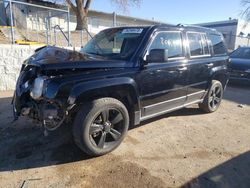
<instances>
[{"instance_id":1,"label":"metal fence before pale building, both sides of the tree trunk","mask_svg":"<svg viewBox=\"0 0 250 188\"><path fill-rule=\"evenodd\" d=\"M115 13L95 11L92 15L89 12L88 31L75 31L75 15L70 14L69 8L51 2L38 5L17 0L0 0L0 44L33 42L34 44L80 47L91 38L88 32L94 35L112 26L157 23L116 16Z\"/></svg>"}]
</instances>

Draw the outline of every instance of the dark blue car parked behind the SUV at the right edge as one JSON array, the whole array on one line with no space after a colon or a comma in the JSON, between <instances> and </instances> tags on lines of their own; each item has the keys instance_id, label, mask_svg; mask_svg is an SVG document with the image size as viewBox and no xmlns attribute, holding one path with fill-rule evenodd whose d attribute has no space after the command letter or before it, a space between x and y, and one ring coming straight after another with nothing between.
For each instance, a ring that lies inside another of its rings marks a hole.
<instances>
[{"instance_id":1,"label":"dark blue car parked behind the SUV at the right edge","mask_svg":"<svg viewBox=\"0 0 250 188\"><path fill-rule=\"evenodd\" d=\"M250 47L236 49L230 59L230 82L250 84Z\"/></svg>"}]
</instances>

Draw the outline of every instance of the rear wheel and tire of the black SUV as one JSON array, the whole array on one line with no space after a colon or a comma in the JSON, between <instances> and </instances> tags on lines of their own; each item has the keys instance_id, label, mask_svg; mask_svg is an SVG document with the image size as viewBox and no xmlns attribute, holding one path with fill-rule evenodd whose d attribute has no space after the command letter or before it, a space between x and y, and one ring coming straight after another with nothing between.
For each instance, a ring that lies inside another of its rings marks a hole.
<instances>
[{"instance_id":1,"label":"rear wheel and tire of the black SUV","mask_svg":"<svg viewBox=\"0 0 250 188\"><path fill-rule=\"evenodd\" d=\"M200 109L207 113L215 112L220 104L223 97L223 86L220 81L212 80L211 86L203 100L199 104Z\"/></svg>"}]
</instances>

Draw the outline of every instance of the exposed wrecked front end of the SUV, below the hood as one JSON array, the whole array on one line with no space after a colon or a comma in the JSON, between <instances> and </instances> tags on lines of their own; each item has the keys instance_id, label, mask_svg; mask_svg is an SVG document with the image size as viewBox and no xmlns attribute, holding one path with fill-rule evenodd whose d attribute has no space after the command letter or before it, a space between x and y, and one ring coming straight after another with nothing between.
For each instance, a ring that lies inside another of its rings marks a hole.
<instances>
[{"instance_id":1,"label":"exposed wrecked front end of the SUV, below the hood","mask_svg":"<svg viewBox=\"0 0 250 188\"><path fill-rule=\"evenodd\" d=\"M61 101L42 98L44 84L48 77L35 77L35 69L35 67L25 67L21 71L13 98L15 119L20 115L28 116L41 122L46 130L52 131L64 122L66 111Z\"/></svg>"}]
</instances>

